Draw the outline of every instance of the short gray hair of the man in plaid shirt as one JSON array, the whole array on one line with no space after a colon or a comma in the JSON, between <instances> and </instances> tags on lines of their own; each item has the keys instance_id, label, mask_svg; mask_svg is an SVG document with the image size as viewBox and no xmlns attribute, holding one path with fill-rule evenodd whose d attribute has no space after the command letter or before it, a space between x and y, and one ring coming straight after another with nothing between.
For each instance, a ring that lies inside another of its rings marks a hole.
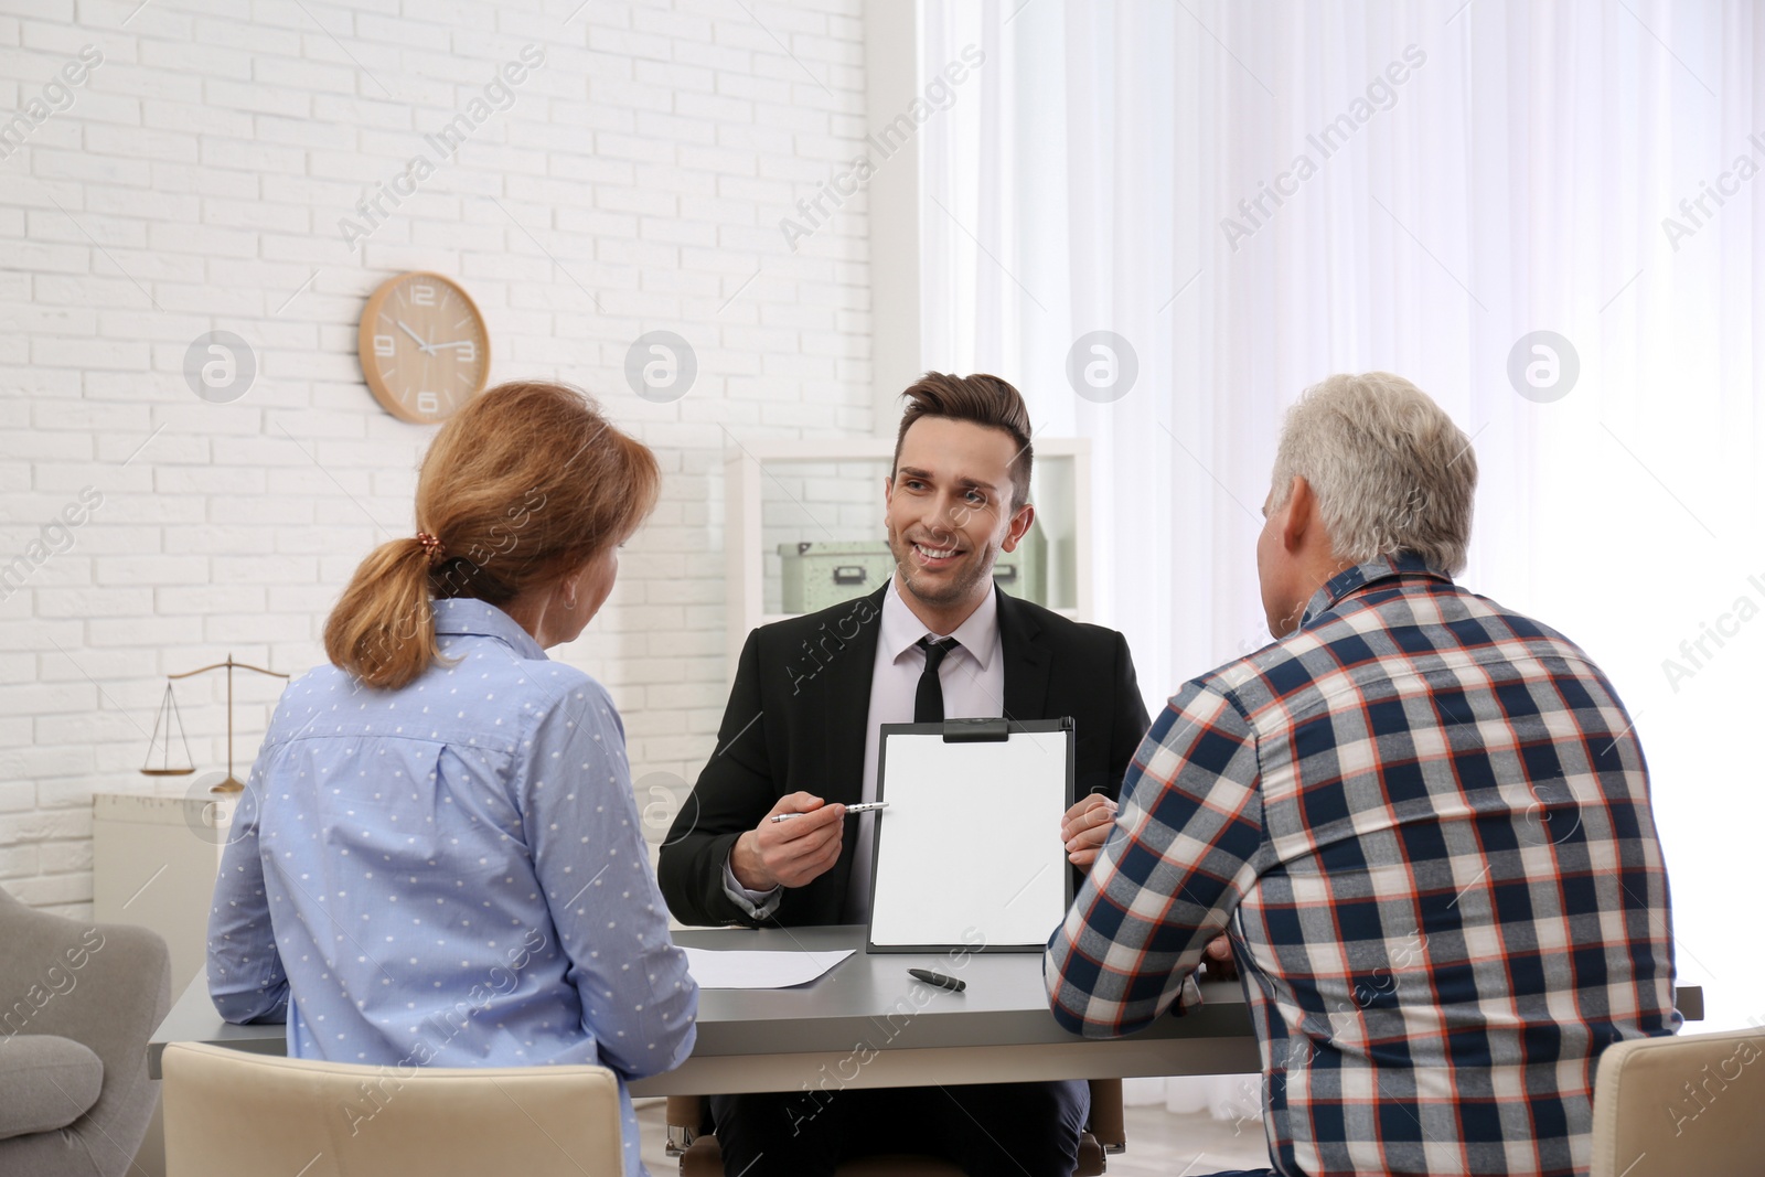
<instances>
[{"instance_id":1,"label":"short gray hair of the man in plaid shirt","mask_svg":"<svg viewBox=\"0 0 1765 1177\"><path fill-rule=\"evenodd\" d=\"M1311 485L1340 559L1407 551L1447 575L1465 568L1477 455L1401 376L1331 376L1306 388L1281 422L1271 514L1296 475Z\"/></svg>"}]
</instances>

